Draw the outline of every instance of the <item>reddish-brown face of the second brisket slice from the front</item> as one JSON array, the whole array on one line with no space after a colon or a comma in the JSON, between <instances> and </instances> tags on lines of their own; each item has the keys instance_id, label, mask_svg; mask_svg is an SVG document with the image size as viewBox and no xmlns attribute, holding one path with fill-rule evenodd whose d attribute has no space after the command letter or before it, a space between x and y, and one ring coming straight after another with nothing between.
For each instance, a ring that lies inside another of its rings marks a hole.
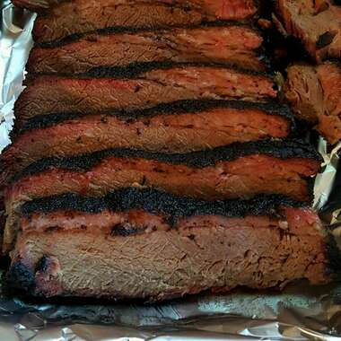
<instances>
[{"instance_id":1,"label":"reddish-brown face of the second brisket slice from the front","mask_svg":"<svg viewBox=\"0 0 341 341\"><path fill-rule=\"evenodd\" d=\"M161 188L174 194L207 200L275 193L309 201L310 189L306 179L319 170L317 160L299 157L280 159L262 153L241 156L233 161L217 161L203 168L162 162L156 157L109 156L100 159L90 169L79 170L73 170L72 159L66 159L64 163L65 167L58 167L56 160L56 166L49 163L48 169L23 176L6 188L4 201L12 205L18 198L31 200L68 191L88 196L103 195L110 190L133 185ZM196 186L186 186L189 181Z\"/></svg>"}]
</instances>

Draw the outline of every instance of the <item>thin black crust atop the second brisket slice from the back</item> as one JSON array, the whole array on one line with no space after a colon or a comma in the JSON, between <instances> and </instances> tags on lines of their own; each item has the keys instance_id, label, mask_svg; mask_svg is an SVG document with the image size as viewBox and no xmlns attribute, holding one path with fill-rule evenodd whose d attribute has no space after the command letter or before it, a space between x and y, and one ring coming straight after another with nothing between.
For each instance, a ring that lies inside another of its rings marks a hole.
<instances>
[{"instance_id":1,"label":"thin black crust atop the second brisket slice from the back","mask_svg":"<svg viewBox=\"0 0 341 341\"><path fill-rule=\"evenodd\" d=\"M170 27L170 26L157 26L155 28L150 28L148 26L144 27L131 27L131 26L111 26L106 27L104 29L98 29L94 31L87 31L87 32L80 32L80 33L73 33L69 36L57 39L57 40L51 40L51 41L45 41L45 42L35 42L35 45L39 48L58 48L62 47L66 44L73 43L74 41L77 41L79 39L82 39L83 37L89 35L89 34L99 34L99 35L106 35L106 34L120 34L120 33L127 33L127 34L134 34L139 32L157 32L157 31L172 31L174 29L186 29L186 30L194 30L199 28L205 28L205 27L226 27L226 26L244 26L246 28L251 29L252 31L255 31L256 33L260 34L260 31L258 27L249 20L244 21L227 21L227 20L217 20L216 22L202 22L201 24L194 24L194 25L178 25L176 27ZM33 36L35 39L35 37ZM36 40L36 39L35 39Z\"/></svg>"}]
</instances>

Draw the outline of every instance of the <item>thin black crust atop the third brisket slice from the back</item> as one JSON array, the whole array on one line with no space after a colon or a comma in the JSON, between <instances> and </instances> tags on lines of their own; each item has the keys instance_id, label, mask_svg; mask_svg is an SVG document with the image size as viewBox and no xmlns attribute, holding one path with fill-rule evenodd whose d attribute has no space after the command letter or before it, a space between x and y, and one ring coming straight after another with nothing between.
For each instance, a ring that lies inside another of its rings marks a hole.
<instances>
[{"instance_id":1,"label":"thin black crust atop the third brisket slice from the back","mask_svg":"<svg viewBox=\"0 0 341 341\"><path fill-rule=\"evenodd\" d=\"M265 71L257 71L245 69L240 66L234 66L229 63L212 63L212 62L173 62L173 61L153 61L145 63L133 63L129 66L94 66L88 71L80 74L58 74L60 76L67 76L68 78L114 78L114 79L131 79L138 78L140 75L151 72L153 70L167 70L171 68L187 68L194 67L217 67L230 69L242 74L258 75L274 80L274 75ZM27 83L35 74L29 74ZM274 84L275 86L275 84Z\"/></svg>"}]
</instances>

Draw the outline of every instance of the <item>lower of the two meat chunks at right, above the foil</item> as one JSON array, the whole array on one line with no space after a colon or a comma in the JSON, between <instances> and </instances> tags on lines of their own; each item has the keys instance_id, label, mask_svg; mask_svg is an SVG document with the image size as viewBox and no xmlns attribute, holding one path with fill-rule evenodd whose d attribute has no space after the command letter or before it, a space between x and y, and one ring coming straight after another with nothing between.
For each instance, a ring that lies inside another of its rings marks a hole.
<instances>
[{"instance_id":1,"label":"lower of the two meat chunks at right, above the foil","mask_svg":"<svg viewBox=\"0 0 341 341\"><path fill-rule=\"evenodd\" d=\"M284 93L294 113L315 125L330 144L341 139L341 68L338 63L290 66Z\"/></svg>"}]
</instances>

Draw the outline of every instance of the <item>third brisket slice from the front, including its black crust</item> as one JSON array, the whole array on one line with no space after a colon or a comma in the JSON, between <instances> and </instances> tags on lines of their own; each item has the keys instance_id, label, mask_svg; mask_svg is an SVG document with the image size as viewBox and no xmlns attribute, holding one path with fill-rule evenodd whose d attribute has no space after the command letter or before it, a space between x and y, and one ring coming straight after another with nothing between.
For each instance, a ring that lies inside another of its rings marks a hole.
<instances>
[{"instance_id":1,"label":"third brisket slice from the front, including its black crust","mask_svg":"<svg viewBox=\"0 0 341 341\"><path fill-rule=\"evenodd\" d=\"M287 107L235 101L174 102L59 123L66 114L39 118L32 119L26 126L30 129L14 137L13 144L2 153L2 179L44 157L118 147L188 153L234 142L283 138L293 127Z\"/></svg>"}]
</instances>

